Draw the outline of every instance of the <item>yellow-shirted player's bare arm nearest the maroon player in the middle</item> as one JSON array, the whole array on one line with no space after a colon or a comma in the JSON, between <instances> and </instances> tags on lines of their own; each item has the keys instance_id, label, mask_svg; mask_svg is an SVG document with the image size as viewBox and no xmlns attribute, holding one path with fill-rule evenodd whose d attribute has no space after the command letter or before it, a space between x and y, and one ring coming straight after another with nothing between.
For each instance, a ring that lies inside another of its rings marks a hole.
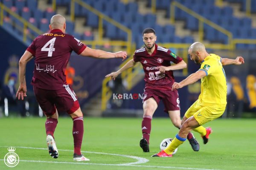
<instances>
[{"instance_id":1,"label":"yellow-shirted player's bare arm nearest the maroon player in the middle","mask_svg":"<svg viewBox=\"0 0 256 170\"><path fill-rule=\"evenodd\" d=\"M197 72L190 74L189 77L186 79L183 79L181 82L174 82L172 85L172 91L174 89L183 88L186 85L193 84L194 82L197 82L199 79L206 76L205 71L198 70Z\"/></svg>"}]
</instances>

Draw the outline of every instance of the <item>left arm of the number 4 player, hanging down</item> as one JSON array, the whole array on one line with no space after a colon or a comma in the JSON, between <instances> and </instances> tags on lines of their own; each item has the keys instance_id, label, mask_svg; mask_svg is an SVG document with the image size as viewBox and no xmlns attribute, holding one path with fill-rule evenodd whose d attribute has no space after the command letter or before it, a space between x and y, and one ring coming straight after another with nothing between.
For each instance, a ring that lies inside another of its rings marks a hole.
<instances>
[{"instance_id":1,"label":"left arm of the number 4 player, hanging down","mask_svg":"<svg viewBox=\"0 0 256 170\"><path fill-rule=\"evenodd\" d=\"M16 97L18 99L24 99L26 97L26 63L33 58L33 55L29 51L25 51L23 56L19 61L19 77L20 77L20 86L17 90Z\"/></svg>"}]
</instances>

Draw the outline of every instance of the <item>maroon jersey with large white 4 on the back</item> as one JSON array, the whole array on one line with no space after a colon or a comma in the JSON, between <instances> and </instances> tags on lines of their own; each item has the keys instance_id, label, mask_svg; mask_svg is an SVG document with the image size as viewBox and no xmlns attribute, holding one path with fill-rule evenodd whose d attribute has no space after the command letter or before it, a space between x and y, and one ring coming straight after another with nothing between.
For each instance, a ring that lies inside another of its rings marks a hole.
<instances>
[{"instance_id":1,"label":"maroon jersey with large white 4 on the back","mask_svg":"<svg viewBox=\"0 0 256 170\"><path fill-rule=\"evenodd\" d=\"M35 57L34 76L31 84L37 88L58 90L67 85L65 69L70 54L81 54L86 46L59 29L39 35L26 49Z\"/></svg>"}]
</instances>

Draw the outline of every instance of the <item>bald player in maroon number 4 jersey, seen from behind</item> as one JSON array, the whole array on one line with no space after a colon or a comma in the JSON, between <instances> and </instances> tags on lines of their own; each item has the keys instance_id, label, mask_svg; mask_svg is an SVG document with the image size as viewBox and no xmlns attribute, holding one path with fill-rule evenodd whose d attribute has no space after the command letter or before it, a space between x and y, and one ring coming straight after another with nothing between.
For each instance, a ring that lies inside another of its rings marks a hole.
<instances>
[{"instance_id":1,"label":"bald player in maroon number 4 jersey, seen from behind","mask_svg":"<svg viewBox=\"0 0 256 170\"><path fill-rule=\"evenodd\" d=\"M83 113L72 87L67 85L65 69L70 54L75 51L82 56L94 58L122 58L126 52L110 53L94 50L84 45L75 37L65 34L66 20L61 15L54 15L50 21L50 32L39 35L26 49L19 62L20 87L16 97L26 97L26 63L35 57L32 85L36 99L46 115L45 129L49 154L58 158L58 150L53 133L58 123L58 111L66 111L73 119L74 161L89 161L81 154L84 134Z\"/></svg>"}]
</instances>

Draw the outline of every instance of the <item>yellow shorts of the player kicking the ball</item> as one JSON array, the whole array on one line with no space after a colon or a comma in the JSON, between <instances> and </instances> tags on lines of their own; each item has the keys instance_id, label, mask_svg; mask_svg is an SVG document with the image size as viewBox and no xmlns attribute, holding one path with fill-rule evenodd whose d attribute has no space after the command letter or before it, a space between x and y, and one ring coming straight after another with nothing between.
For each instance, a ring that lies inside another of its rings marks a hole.
<instances>
[{"instance_id":1,"label":"yellow shorts of the player kicking the ball","mask_svg":"<svg viewBox=\"0 0 256 170\"><path fill-rule=\"evenodd\" d=\"M199 101L195 101L192 106L186 111L185 117L189 118L191 116L194 116L199 125L204 125L207 122L210 122L214 119L217 119L220 117L226 107L207 107L207 106L202 106L200 105Z\"/></svg>"}]
</instances>

